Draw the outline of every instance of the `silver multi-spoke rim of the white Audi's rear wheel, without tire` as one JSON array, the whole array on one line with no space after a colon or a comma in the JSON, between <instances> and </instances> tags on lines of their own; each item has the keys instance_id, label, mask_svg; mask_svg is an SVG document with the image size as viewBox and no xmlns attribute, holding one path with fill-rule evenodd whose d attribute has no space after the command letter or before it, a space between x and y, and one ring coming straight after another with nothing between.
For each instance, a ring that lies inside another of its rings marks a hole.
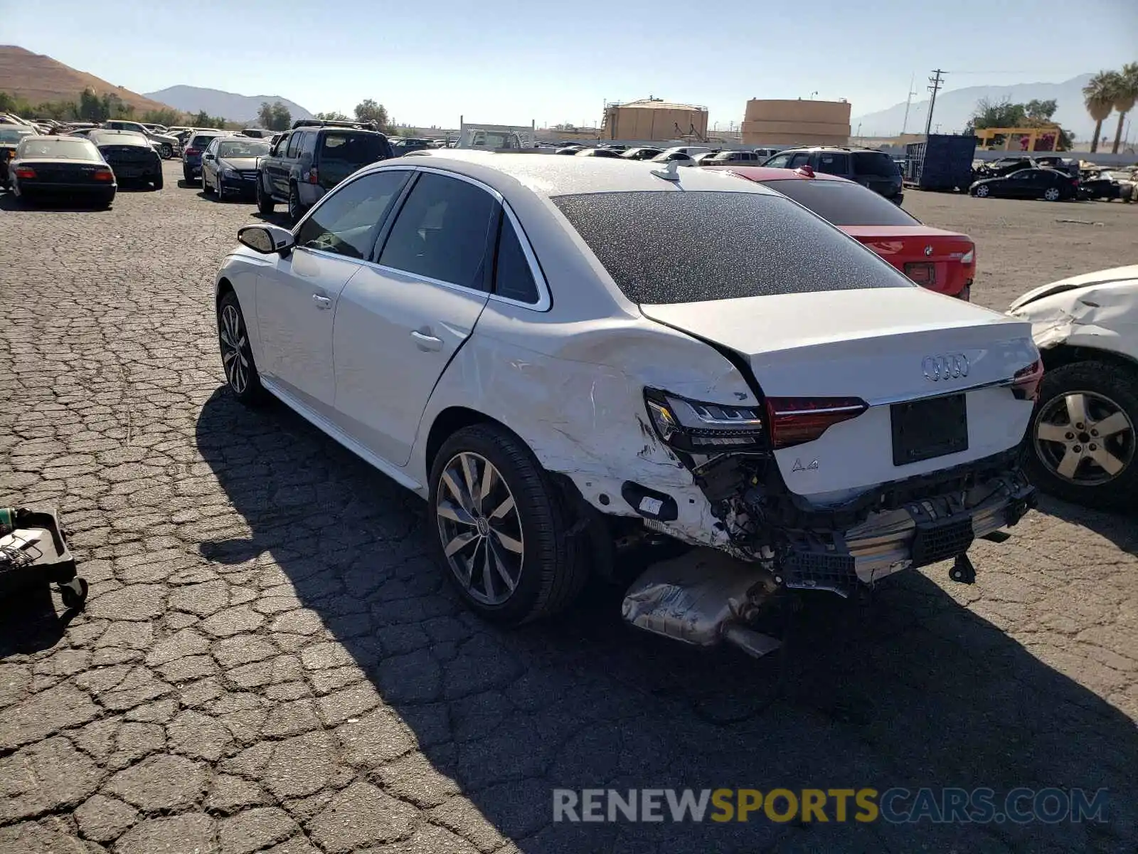
<instances>
[{"instance_id":1,"label":"silver multi-spoke rim of the white Audi's rear wheel, without tire","mask_svg":"<svg viewBox=\"0 0 1138 854\"><path fill-rule=\"evenodd\" d=\"M504 603L518 586L526 536L513 493L494 463L464 451L443 468L435 516L451 572L484 605Z\"/></svg>"}]
</instances>

